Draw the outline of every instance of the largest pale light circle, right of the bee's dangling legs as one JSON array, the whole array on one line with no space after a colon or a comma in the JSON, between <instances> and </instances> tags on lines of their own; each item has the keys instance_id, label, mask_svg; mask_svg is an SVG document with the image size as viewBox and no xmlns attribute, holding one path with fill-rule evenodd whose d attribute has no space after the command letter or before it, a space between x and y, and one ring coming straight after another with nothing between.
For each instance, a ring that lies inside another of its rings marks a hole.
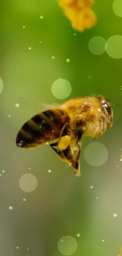
<instances>
[{"instance_id":1,"label":"largest pale light circle, right of the bee's dangling legs","mask_svg":"<svg viewBox=\"0 0 122 256\"><path fill-rule=\"evenodd\" d=\"M86 162L92 166L100 166L107 160L107 148L100 142L90 143L84 150Z\"/></svg>"}]
</instances>

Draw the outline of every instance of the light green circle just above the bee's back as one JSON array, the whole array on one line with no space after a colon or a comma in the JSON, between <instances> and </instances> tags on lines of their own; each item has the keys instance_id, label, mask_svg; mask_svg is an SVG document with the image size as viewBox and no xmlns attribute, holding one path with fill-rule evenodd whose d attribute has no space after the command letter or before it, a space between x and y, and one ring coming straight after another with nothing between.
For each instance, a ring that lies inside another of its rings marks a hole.
<instances>
[{"instance_id":1,"label":"light green circle just above the bee's back","mask_svg":"<svg viewBox=\"0 0 122 256\"><path fill-rule=\"evenodd\" d=\"M54 81L51 92L57 99L65 99L71 94L71 84L65 79Z\"/></svg>"}]
</instances>

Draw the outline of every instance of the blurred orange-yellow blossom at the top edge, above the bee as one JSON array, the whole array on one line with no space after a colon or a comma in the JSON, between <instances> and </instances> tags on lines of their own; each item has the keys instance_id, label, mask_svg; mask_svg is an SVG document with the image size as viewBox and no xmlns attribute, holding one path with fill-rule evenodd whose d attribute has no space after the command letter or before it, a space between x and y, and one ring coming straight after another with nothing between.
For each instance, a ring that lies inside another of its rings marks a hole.
<instances>
[{"instance_id":1,"label":"blurred orange-yellow blossom at the top edge, above the bee","mask_svg":"<svg viewBox=\"0 0 122 256\"><path fill-rule=\"evenodd\" d=\"M90 9L94 0L59 0L59 4L75 30L84 31L96 24L97 17Z\"/></svg>"}]
</instances>

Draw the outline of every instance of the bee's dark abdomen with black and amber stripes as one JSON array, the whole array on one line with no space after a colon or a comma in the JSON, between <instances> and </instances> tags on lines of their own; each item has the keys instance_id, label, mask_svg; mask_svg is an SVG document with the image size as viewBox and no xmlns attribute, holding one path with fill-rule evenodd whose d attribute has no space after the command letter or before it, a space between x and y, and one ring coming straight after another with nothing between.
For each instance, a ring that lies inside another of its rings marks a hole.
<instances>
[{"instance_id":1,"label":"bee's dark abdomen with black and amber stripes","mask_svg":"<svg viewBox=\"0 0 122 256\"><path fill-rule=\"evenodd\" d=\"M62 110L46 110L28 120L18 132L16 144L25 148L41 146L57 139L64 124L69 120ZM19 138L21 143L19 145Z\"/></svg>"}]
</instances>

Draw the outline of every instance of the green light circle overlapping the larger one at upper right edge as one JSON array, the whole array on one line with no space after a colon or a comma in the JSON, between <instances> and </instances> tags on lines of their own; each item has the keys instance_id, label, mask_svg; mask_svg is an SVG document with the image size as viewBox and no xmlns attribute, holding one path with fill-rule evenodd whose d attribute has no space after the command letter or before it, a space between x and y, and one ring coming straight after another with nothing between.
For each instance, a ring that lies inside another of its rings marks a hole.
<instances>
[{"instance_id":1,"label":"green light circle overlapping the larger one at upper right edge","mask_svg":"<svg viewBox=\"0 0 122 256\"><path fill-rule=\"evenodd\" d=\"M88 48L91 53L95 55L101 55L106 50L106 41L101 36L94 36L90 39Z\"/></svg>"}]
</instances>

